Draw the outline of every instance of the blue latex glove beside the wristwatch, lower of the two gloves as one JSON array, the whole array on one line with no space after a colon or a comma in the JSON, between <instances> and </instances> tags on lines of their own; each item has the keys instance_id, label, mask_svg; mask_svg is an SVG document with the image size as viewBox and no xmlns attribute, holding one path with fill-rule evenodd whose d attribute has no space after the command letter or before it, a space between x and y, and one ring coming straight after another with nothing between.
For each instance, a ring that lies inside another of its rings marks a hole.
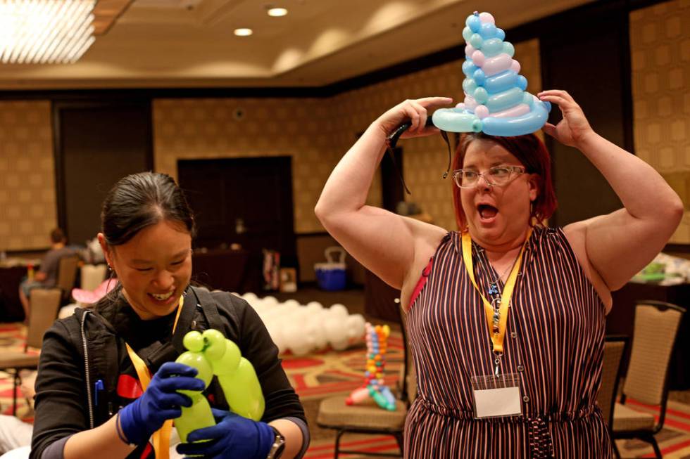
<instances>
[{"instance_id":1,"label":"blue latex glove beside the wristwatch, lower of the two gloves","mask_svg":"<svg viewBox=\"0 0 690 459\"><path fill-rule=\"evenodd\" d=\"M177 452L203 458L265 459L275 432L265 422L243 418L230 411L212 408L213 416L222 419L217 425L196 429L187 435L189 443L177 445ZM201 441L192 443L192 441Z\"/></svg>"}]
</instances>

